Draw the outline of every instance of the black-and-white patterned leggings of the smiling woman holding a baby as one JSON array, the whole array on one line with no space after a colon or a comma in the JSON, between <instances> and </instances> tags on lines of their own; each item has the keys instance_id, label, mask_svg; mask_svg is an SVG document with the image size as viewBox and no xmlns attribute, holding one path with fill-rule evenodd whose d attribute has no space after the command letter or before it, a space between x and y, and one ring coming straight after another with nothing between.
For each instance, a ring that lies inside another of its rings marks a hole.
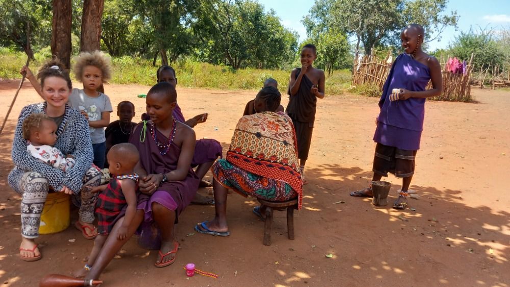
<instances>
[{"instance_id":1,"label":"black-and-white patterned leggings of the smiling woman holding a baby","mask_svg":"<svg viewBox=\"0 0 510 287\"><path fill-rule=\"evenodd\" d=\"M42 208L49 190L48 180L37 172L19 172L21 179L14 191L22 196L21 200L21 235L25 238L39 236ZM11 174L10 176L16 176ZM101 183L101 172L90 168L83 176L83 187L80 193L73 194L73 202L80 203L80 220L86 223L94 221L94 207L97 194L91 193L85 186L97 186Z\"/></svg>"}]
</instances>

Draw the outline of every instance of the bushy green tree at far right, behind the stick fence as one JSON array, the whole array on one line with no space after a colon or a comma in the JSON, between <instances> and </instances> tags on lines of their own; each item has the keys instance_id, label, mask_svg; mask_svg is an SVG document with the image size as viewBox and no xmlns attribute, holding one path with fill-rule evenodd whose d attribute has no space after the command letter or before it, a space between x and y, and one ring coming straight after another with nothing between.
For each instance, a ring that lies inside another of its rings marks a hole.
<instances>
[{"instance_id":1,"label":"bushy green tree at far right, behind the stick fence","mask_svg":"<svg viewBox=\"0 0 510 287\"><path fill-rule=\"evenodd\" d=\"M472 29L461 32L449 45L450 53L459 59L469 60L473 57L473 68L487 68L503 64L503 51L495 40L493 31L480 29L475 33Z\"/></svg>"}]
</instances>

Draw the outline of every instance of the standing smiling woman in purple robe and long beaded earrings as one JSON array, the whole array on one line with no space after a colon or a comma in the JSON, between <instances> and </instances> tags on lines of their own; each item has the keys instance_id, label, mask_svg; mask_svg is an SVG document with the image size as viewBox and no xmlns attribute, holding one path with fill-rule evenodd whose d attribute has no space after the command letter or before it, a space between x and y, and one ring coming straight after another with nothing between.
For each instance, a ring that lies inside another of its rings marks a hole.
<instances>
[{"instance_id":1,"label":"standing smiling woman in purple robe and long beaded earrings","mask_svg":"<svg viewBox=\"0 0 510 287\"><path fill-rule=\"evenodd\" d=\"M402 178L402 189L395 209L407 207L407 195L415 170L416 152L420 149L425 99L441 94L443 78L439 61L421 50L423 27L407 26L400 33L405 54L397 57L386 80L376 119L375 156L372 181L388 176L388 172ZM432 89L425 90L428 81ZM373 197L372 187L350 194L355 197Z\"/></svg>"}]
</instances>

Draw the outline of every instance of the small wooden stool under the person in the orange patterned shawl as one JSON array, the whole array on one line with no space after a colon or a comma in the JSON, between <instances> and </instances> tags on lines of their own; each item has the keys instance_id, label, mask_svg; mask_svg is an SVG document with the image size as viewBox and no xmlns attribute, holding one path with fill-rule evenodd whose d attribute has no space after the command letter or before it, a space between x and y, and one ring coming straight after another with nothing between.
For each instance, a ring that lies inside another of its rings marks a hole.
<instances>
[{"instance_id":1,"label":"small wooden stool under the person in the orange patterned shawl","mask_svg":"<svg viewBox=\"0 0 510 287\"><path fill-rule=\"evenodd\" d=\"M288 201L267 201L257 199L261 206L261 210L266 208L266 224L264 225L264 245L271 245L271 224L273 222L273 210L287 209L287 231L289 239L294 239L294 209L297 209L297 198Z\"/></svg>"}]
</instances>

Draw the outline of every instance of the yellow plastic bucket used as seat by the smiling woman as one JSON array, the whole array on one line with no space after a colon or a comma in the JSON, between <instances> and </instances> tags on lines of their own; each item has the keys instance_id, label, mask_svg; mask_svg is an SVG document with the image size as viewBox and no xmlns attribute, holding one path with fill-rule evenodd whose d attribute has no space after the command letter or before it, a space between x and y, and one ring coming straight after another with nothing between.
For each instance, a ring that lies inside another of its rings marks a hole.
<instances>
[{"instance_id":1,"label":"yellow plastic bucket used as seat by the smiling woman","mask_svg":"<svg viewBox=\"0 0 510 287\"><path fill-rule=\"evenodd\" d=\"M57 233L69 227L70 196L65 193L48 193L41 214L40 234Z\"/></svg>"}]
</instances>

